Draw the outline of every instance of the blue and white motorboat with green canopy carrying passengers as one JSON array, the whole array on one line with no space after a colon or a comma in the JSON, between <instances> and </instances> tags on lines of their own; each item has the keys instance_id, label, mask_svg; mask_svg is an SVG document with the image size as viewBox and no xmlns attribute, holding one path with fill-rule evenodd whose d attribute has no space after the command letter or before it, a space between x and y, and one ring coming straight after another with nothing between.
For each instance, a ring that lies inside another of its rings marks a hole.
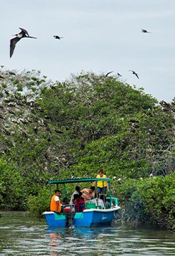
<instances>
[{"instance_id":1,"label":"blue and white motorboat with green canopy carrying passengers","mask_svg":"<svg viewBox=\"0 0 175 256\"><path fill-rule=\"evenodd\" d=\"M101 206L98 206L97 199L96 203L93 203L93 200L86 201L85 209L81 213L75 212L74 205L63 206L63 211L61 213L45 211L43 215L45 215L49 228L90 228L99 225L111 225L116 213L120 209L120 206L118 206L118 198L111 196L111 178L70 178L65 180L48 181L48 184L50 184L50 192L52 185L56 185L55 189L58 189L58 186L63 185L63 194L65 198L67 184L76 183L78 185L80 183L92 183L94 181L96 181L96 186L97 181L108 181L109 193L108 197L106 197L106 200L109 202L108 206L101 209Z\"/></svg>"}]
</instances>

